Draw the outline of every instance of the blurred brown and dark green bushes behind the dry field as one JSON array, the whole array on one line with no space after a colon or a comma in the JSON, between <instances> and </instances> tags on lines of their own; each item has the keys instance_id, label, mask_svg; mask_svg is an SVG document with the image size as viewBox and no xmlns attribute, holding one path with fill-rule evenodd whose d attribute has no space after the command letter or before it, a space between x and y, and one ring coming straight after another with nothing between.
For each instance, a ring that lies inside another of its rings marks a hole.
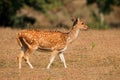
<instances>
[{"instance_id":1,"label":"blurred brown and dark green bushes behind the dry field","mask_svg":"<svg viewBox=\"0 0 120 80\"><path fill-rule=\"evenodd\" d=\"M0 0L0 27L71 28L79 17L92 29L120 27L120 0Z\"/></svg>"}]
</instances>

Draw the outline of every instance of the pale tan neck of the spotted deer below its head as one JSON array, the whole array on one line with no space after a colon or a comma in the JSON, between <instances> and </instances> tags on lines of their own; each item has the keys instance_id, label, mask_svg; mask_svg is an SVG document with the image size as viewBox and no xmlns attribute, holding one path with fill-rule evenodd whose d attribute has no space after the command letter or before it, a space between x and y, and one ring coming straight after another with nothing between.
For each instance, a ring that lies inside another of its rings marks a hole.
<instances>
[{"instance_id":1,"label":"pale tan neck of the spotted deer below its head","mask_svg":"<svg viewBox=\"0 0 120 80\"><path fill-rule=\"evenodd\" d=\"M74 26L72 28L72 30L68 33L68 43L74 41L77 37L78 37L78 34L79 34L79 28Z\"/></svg>"}]
</instances>

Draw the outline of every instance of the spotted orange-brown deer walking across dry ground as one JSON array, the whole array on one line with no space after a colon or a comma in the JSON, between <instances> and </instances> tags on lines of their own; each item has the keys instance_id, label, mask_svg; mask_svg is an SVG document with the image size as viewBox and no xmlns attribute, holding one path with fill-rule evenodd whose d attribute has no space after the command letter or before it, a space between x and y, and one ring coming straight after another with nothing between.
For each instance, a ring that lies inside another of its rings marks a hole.
<instances>
[{"instance_id":1,"label":"spotted orange-brown deer walking across dry ground","mask_svg":"<svg viewBox=\"0 0 120 80\"><path fill-rule=\"evenodd\" d=\"M29 61L29 55L37 49L51 51L47 69L50 68L57 55L59 55L64 67L67 68L63 53L67 49L68 44L78 37L79 30L86 30L87 28L88 26L83 21L76 18L73 20L72 29L66 33L46 30L22 30L17 34L17 42L21 47L21 52L17 56L19 69L21 69L22 58L30 68L33 68Z\"/></svg>"}]
</instances>

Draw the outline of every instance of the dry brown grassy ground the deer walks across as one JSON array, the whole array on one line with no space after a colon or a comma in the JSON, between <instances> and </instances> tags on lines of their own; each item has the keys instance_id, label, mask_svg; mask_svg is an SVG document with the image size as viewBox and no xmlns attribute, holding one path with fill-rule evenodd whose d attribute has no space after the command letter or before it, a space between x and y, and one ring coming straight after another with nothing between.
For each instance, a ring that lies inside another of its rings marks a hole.
<instances>
[{"instance_id":1,"label":"dry brown grassy ground the deer walks across","mask_svg":"<svg viewBox=\"0 0 120 80\"><path fill-rule=\"evenodd\" d=\"M30 56L34 69L23 61L18 69L19 30L0 28L0 80L120 80L120 29L81 31L68 45L65 69L57 57L47 70L49 52Z\"/></svg>"}]
</instances>

